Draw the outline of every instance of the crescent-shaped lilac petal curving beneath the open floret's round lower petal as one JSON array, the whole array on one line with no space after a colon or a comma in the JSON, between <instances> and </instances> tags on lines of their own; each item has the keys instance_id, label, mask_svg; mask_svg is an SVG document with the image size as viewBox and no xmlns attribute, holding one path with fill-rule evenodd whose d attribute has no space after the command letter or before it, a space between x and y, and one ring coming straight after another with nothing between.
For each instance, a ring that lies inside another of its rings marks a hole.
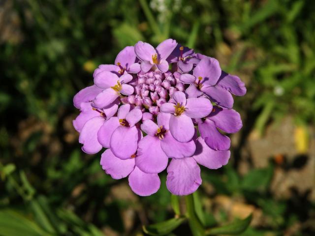
<instances>
[{"instance_id":1,"label":"crescent-shaped lilac petal curving beneath the open floret's round lower petal","mask_svg":"<svg viewBox=\"0 0 315 236\"><path fill-rule=\"evenodd\" d=\"M193 139L187 143L178 142L170 132L166 132L164 139L161 140L161 148L168 157L184 158L193 155L196 145Z\"/></svg>"}]
</instances>

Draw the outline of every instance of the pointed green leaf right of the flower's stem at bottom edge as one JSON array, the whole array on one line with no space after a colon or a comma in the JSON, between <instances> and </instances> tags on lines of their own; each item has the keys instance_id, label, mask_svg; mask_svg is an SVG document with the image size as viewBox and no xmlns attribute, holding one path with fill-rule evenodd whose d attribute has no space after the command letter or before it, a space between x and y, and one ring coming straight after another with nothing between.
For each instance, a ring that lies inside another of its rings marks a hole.
<instances>
[{"instance_id":1,"label":"pointed green leaf right of the flower's stem at bottom edge","mask_svg":"<svg viewBox=\"0 0 315 236\"><path fill-rule=\"evenodd\" d=\"M206 230L206 235L239 235L243 233L252 221L252 214L244 220L236 219L234 222Z\"/></svg>"}]
</instances>

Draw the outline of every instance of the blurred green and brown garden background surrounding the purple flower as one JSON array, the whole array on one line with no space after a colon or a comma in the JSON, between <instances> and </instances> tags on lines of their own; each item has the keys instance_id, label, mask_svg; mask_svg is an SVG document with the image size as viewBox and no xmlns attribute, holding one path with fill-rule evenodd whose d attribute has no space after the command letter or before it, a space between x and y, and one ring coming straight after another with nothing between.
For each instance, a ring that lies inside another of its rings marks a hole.
<instances>
[{"instance_id":1,"label":"blurred green and brown garden background surrounding the purple flower","mask_svg":"<svg viewBox=\"0 0 315 236\"><path fill-rule=\"evenodd\" d=\"M230 163L202 168L204 225L253 212L244 236L314 235L314 12L313 0L0 0L0 235L141 236L173 216L166 173L136 196L72 127L73 95L98 64L169 37L248 88Z\"/></svg>"}]
</instances>

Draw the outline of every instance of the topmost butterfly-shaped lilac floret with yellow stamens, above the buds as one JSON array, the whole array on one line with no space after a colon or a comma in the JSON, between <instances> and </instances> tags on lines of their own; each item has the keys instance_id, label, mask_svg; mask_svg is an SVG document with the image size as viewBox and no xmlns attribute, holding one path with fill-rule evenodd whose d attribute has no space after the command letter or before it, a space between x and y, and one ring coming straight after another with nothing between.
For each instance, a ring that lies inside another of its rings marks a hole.
<instances>
[{"instance_id":1,"label":"topmost butterfly-shaped lilac floret with yellow stamens, above the buds","mask_svg":"<svg viewBox=\"0 0 315 236\"><path fill-rule=\"evenodd\" d=\"M166 39L161 42L155 49L151 44L139 41L134 45L134 51L137 57L142 60L141 70L148 72L153 66L159 71L166 72L168 70L168 62L166 59L177 46L177 42L173 39Z\"/></svg>"}]
</instances>

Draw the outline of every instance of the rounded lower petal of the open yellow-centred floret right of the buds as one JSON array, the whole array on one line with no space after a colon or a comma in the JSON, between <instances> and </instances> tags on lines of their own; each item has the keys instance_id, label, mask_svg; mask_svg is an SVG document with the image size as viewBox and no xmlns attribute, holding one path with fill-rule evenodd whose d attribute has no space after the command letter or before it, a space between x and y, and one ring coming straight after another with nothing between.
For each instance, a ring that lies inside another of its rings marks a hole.
<instances>
[{"instance_id":1,"label":"rounded lower petal of the open yellow-centred floret right of the buds","mask_svg":"<svg viewBox=\"0 0 315 236\"><path fill-rule=\"evenodd\" d=\"M169 120L169 129L173 137L182 143L189 142L195 133L191 118L184 114L172 115Z\"/></svg>"}]
</instances>

